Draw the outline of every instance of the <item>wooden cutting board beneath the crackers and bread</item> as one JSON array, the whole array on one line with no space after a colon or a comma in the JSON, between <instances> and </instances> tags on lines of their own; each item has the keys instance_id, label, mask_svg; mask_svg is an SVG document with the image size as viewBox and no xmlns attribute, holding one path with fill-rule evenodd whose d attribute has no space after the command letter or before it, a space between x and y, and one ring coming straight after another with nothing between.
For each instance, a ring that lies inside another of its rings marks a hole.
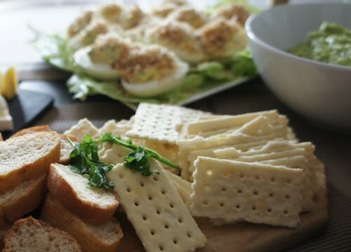
<instances>
[{"instance_id":1,"label":"wooden cutting board beneath the crackers and bread","mask_svg":"<svg viewBox=\"0 0 351 252\"><path fill-rule=\"evenodd\" d=\"M326 173L318 171L319 194L314 199L314 209L300 215L301 222L295 229L251 223L213 226L206 218L197 223L207 237L207 244L199 252L282 251L321 234L328 222ZM119 215L124 238L119 251L145 251L133 227L123 214ZM181 251L180 251L181 252Z\"/></svg>"}]
</instances>

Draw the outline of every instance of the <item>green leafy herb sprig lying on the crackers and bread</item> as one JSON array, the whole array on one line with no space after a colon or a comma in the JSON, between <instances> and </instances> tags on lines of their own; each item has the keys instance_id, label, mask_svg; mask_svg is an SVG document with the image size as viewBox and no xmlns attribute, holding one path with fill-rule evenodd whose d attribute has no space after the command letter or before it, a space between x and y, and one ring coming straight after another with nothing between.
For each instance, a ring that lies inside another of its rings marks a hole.
<instances>
[{"instance_id":1,"label":"green leafy herb sprig lying on the crackers and bread","mask_svg":"<svg viewBox=\"0 0 351 252\"><path fill-rule=\"evenodd\" d=\"M86 135L83 142L74 143L72 140L69 140L69 142L74 147L69 155L71 159L69 168L74 173L84 175L88 179L88 185L100 189L111 190L114 188L114 184L106 178L106 173L113 168L113 165L103 163L98 156L98 144L102 142L111 142L132 150L132 152L124 157L124 166L135 171L140 171L142 175L150 176L153 173L159 173L156 170L150 169L150 157L173 168L178 168L176 164L162 157L154 150L134 145L131 140L124 141L121 137L112 135L111 133L103 134L102 138L98 140L93 140L90 135Z\"/></svg>"}]
</instances>

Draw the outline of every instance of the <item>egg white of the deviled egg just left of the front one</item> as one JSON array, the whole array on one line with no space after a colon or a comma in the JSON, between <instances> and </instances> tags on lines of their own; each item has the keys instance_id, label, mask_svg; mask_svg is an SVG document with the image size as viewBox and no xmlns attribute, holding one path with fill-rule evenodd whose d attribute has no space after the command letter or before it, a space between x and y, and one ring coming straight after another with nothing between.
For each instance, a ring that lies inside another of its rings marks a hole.
<instances>
[{"instance_id":1,"label":"egg white of the deviled egg just left of the front one","mask_svg":"<svg viewBox=\"0 0 351 252\"><path fill-rule=\"evenodd\" d=\"M93 62L89 56L90 47L79 49L74 53L74 62L81 70L91 77L104 80L114 80L119 78L117 69L102 62Z\"/></svg>"}]
</instances>

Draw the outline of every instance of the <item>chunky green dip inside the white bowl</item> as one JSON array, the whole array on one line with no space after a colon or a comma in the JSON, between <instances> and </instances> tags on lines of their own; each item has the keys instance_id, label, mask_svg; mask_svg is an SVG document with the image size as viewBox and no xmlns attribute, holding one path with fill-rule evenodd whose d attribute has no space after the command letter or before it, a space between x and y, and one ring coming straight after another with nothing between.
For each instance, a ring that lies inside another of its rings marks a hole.
<instances>
[{"instance_id":1,"label":"chunky green dip inside the white bowl","mask_svg":"<svg viewBox=\"0 0 351 252\"><path fill-rule=\"evenodd\" d=\"M288 50L294 55L333 65L351 67L351 29L323 22L318 31L308 34L308 41Z\"/></svg>"}]
</instances>

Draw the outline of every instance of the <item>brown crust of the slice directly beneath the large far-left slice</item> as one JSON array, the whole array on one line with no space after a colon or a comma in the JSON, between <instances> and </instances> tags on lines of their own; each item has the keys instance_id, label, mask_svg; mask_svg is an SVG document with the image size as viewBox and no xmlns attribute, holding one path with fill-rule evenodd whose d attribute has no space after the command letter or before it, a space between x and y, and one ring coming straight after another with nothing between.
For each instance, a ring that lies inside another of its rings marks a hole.
<instances>
[{"instance_id":1,"label":"brown crust of the slice directly beneath the large far-left slice","mask_svg":"<svg viewBox=\"0 0 351 252\"><path fill-rule=\"evenodd\" d=\"M4 213L5 220L18 220L37 208L44 200L46 195L46 174L41 175L37 180L33 180L33 183L29 185L29 190L25 194L20 194L18 197L13 197L11 201L8 201L0 206Z\"/></svg>"}]
</instances>

